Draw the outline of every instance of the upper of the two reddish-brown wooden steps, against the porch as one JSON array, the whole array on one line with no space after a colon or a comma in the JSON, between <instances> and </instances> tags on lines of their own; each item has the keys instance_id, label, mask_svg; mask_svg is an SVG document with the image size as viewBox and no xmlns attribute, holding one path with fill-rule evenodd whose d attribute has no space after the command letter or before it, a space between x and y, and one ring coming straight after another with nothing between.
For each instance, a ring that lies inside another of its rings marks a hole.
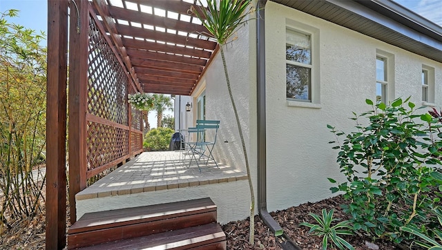
<instances>
[{"instance_id":1,"label":"upper of the two reddish-brown wooden steps, against the porch","mask_svg":"<svg viewBox=\"0 0 442 250\"><path fill-rule=\"evenodd\" d=\"M68 230L68 249L216 222L210 198L84 214Z\"/></svg>"}]
</instances>

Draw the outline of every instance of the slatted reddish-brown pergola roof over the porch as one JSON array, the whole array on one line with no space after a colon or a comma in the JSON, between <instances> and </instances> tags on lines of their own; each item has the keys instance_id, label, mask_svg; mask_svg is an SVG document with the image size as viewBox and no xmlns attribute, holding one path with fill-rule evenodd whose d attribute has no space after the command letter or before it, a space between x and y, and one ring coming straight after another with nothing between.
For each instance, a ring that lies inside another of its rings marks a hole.
<instances>
[{"instance_id":1,"label":"slatted reddish-brown pergola roof over the porch","mask_svg":"<svg viewBox=\"0 0 442 250\"><path fill-rule=\"evenodd\" d=\"M191 95L217 49L189 14L197 0L90 0L146 93Z\"/></svg>"}]
</instances>

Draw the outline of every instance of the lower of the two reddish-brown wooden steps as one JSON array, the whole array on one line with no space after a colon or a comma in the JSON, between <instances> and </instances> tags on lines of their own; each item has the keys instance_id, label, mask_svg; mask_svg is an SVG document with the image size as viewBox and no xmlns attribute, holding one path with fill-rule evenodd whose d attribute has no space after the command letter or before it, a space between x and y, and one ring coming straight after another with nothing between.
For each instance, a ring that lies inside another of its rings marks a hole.
<instances>
[{"instance_id":1,"label":"lower of the two reddish-brown wooden steps","mask_svg":"<svg viewBox=\"0 0 442 250\"><path fill-rule=\"evenodd\" d=\"M84 247L81 250L123 249L226 249L226 235L218 223L205 224L175 231L157 233L139 238L119 240Z\"/></svg>"}]
</instances>

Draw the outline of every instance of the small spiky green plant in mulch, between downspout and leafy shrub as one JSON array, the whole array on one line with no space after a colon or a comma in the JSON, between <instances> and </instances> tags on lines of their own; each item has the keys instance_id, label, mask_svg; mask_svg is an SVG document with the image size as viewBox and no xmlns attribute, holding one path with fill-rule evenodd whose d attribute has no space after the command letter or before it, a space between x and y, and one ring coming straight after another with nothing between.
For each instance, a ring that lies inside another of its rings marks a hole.
<instances>
[{"instance_id":1,"label":"small spiky green plant in mulch, between downspout and leafy shrub","mask_svg":"<svg viewBox=\"0 0 442 250\"><path fill-rule=\"evenodd\" d=\"M330 210L327 213L327 209L323 209L322 215L323 218L320 218L318 215L314 213L309 213L311 217L313 217L318 224L311 224L308 222L302 222L300 223L300 226L309 227L310 231L309 233L323 236L323 250L327 250L327 246L329 244L329 240L331 240L330 244L335 244L338 249L344 249L344 247L347 247L347 249L354 250L354 247L352 247L349 242L344 240L343 238L340 238L338 235L353 235L353 227L350 224L348 220L345 220L343 222L339 222L332 226L332 222L338 220L333 218L333 212L334 209Z\"/></svg>"}]
</instances>

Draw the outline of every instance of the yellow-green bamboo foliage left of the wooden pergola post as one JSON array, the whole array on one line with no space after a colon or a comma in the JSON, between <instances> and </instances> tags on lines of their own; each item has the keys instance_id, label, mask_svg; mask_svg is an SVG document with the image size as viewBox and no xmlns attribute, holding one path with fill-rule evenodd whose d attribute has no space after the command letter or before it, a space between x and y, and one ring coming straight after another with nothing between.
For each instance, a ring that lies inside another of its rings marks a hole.
<instances>
[{"instance_id":1,"label":"yellow-green bamboo foliage left of the wooden pergola post","mask_svg":"<svg viewBox=\"0 0 442 250\"><path fill-rule=\"evenodd\" d=\"M0 225L41 209L46 146L44 34L17 24L17 10L0 13Z\"/></svg>"}]
</instances>

